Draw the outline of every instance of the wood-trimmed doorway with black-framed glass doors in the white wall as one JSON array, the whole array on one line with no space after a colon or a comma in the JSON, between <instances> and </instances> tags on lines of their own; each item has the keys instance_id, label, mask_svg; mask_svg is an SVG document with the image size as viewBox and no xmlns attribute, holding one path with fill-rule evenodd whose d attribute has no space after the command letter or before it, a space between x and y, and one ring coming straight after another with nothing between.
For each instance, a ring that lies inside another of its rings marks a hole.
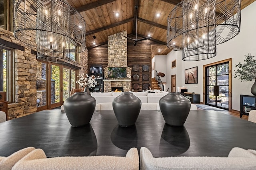
<instances>
[{"instance_id":1,"label":"wood-trimmed doorway with black-framed glass doors in the white wall","mask_svg":"<svg viewBox=\"0 0 256 170\"><path fill-rule=\"evenodd\" d=\"M204 65L204 103L231 110L232 59Z\"/></svg>"}]
</instances>

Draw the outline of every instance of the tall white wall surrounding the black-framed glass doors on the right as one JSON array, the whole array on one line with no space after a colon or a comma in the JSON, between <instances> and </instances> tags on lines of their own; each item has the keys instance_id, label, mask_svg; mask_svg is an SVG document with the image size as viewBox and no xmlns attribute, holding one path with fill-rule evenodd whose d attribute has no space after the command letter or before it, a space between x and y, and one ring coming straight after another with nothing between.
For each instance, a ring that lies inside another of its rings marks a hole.
<instances>
[{"instance_id":1,"label":"tall white wall surrounding the black-framed glass doors on the right","mask_svg":"<svg viewBox=\"0 0 256 170\"><path fill-rule=\"evenodd\" d=\"M170 77L176 74L176 86L186 86L188 91L200 94L203 102L203 65L232 58L232 109L240 111L240 95L250 95L254 81L240 82L234 78L234 65L244 63L244 55L251 53L256 56L256 1L241 11L240 33L228 42L217 45L217 55L202 61L182 61L182 53L171 51L166 55L167 84L170 88ZM176 69L170 69L171 61L177 58ZM198 84L185 84L184 70L198 66Z\"/></svg>"}]
</instances>

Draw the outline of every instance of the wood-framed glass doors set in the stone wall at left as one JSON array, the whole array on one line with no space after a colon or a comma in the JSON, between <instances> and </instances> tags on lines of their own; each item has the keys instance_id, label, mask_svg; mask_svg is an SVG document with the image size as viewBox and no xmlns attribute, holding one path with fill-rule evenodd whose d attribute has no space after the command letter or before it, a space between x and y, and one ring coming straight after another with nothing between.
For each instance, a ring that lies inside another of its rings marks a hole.
<instances>
[{"instance_id":1,"label":"wood-framed glass doors set in the stone wall at left","mask_svg":"<svg viewBox=\"0 0 256 170\"><path fill-rule=\"evenodd\" d=\"M61 106L76 86L76 70L39 61L37 67L37 111Z\"/></svg>"}]
</instances>

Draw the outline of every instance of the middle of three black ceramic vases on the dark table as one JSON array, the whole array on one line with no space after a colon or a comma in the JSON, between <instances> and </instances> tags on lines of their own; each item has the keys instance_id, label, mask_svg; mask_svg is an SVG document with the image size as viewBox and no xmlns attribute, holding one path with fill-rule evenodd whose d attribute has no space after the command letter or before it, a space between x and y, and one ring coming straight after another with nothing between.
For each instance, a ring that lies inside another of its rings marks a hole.
<instances>
[{"instance_id":1,"label":"middle of three black ceramic vases on the dark table","mask_svg":"<svg viewBox=\"0 0 256 170\"><path fill-rule=\"evenodd\" d=\"M123 92L113 102L113 110L121 127L129 127L136 123L140 113L141 101L131 92Z\"/></svg>"}]
</instances>

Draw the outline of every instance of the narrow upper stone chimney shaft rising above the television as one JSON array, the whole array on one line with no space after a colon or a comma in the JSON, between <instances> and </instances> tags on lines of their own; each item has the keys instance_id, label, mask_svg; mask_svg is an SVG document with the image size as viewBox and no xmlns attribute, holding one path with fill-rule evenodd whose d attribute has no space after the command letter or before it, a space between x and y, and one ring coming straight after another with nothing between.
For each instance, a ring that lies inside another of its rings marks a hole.
<instances>
[{"instance_id":1,"label":"narrow upper stone chimney shaft rising above the television","mask_svg":"<svg viewBox=\"0 0 256 170\"><path fill-rule=\"evenodd\" d=\"M108 37L108 67L127 66L127 32L119 32Z\"/></svg>"}]
</instances>

